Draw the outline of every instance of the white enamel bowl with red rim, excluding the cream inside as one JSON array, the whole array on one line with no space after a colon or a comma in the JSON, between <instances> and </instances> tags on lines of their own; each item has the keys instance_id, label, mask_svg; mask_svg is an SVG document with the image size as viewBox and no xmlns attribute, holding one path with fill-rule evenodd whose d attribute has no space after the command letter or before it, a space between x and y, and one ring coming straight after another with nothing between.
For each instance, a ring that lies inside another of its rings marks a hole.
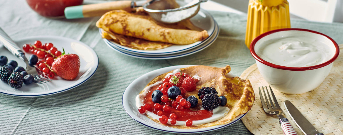
<instances>
[{"instance_id":1,"label":"white enamel bowl with red rim, excluding the cream inside","mask_svg":"<svg viewBox=\"0 0 343 135\"><path fill-rule=\"evenodd\" d=\"M296 36L295 34L305 34L318 40L318 42L327 44L329 49L334 52L333 57L315 66L286 67L270 63L259 57L255 52L255 49L258 50L264 41L273 38ZM329 36L316 31L296 28L278 29L263 33L257 36L250 44L250 53L255 58L258 70L264 80L276 90L287 94L301 94L318 87L328 76L333 61L338 57L339 52L338 44Z\"/></svg>"}]
</instances>

